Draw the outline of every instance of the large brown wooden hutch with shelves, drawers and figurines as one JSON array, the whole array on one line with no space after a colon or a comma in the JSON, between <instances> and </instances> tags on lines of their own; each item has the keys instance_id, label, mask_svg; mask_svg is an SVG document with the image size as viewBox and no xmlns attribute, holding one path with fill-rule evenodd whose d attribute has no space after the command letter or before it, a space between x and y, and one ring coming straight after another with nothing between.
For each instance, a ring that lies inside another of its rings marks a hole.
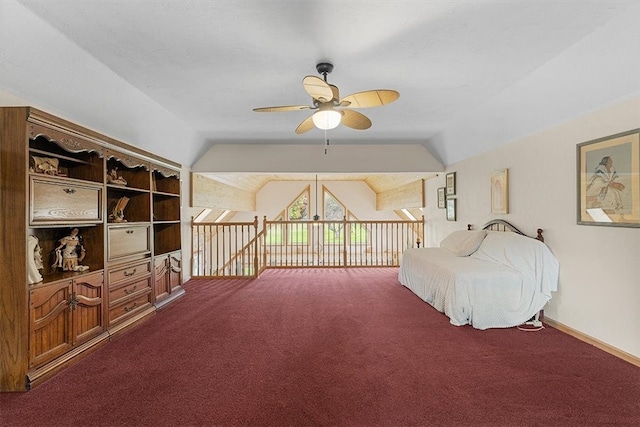
<instances>
[{"instance_id":1,"label":"large brown wooden hutch with shelves, drawers and figurines","mask_svg":"<svg viewBox=\"0 0 640 427\"><path fill-rule=\"evenodd\" d=\"M0 138L0 391L24 391L184 294L181 166L29 107Z\"/></svg>"}]
</instances>

